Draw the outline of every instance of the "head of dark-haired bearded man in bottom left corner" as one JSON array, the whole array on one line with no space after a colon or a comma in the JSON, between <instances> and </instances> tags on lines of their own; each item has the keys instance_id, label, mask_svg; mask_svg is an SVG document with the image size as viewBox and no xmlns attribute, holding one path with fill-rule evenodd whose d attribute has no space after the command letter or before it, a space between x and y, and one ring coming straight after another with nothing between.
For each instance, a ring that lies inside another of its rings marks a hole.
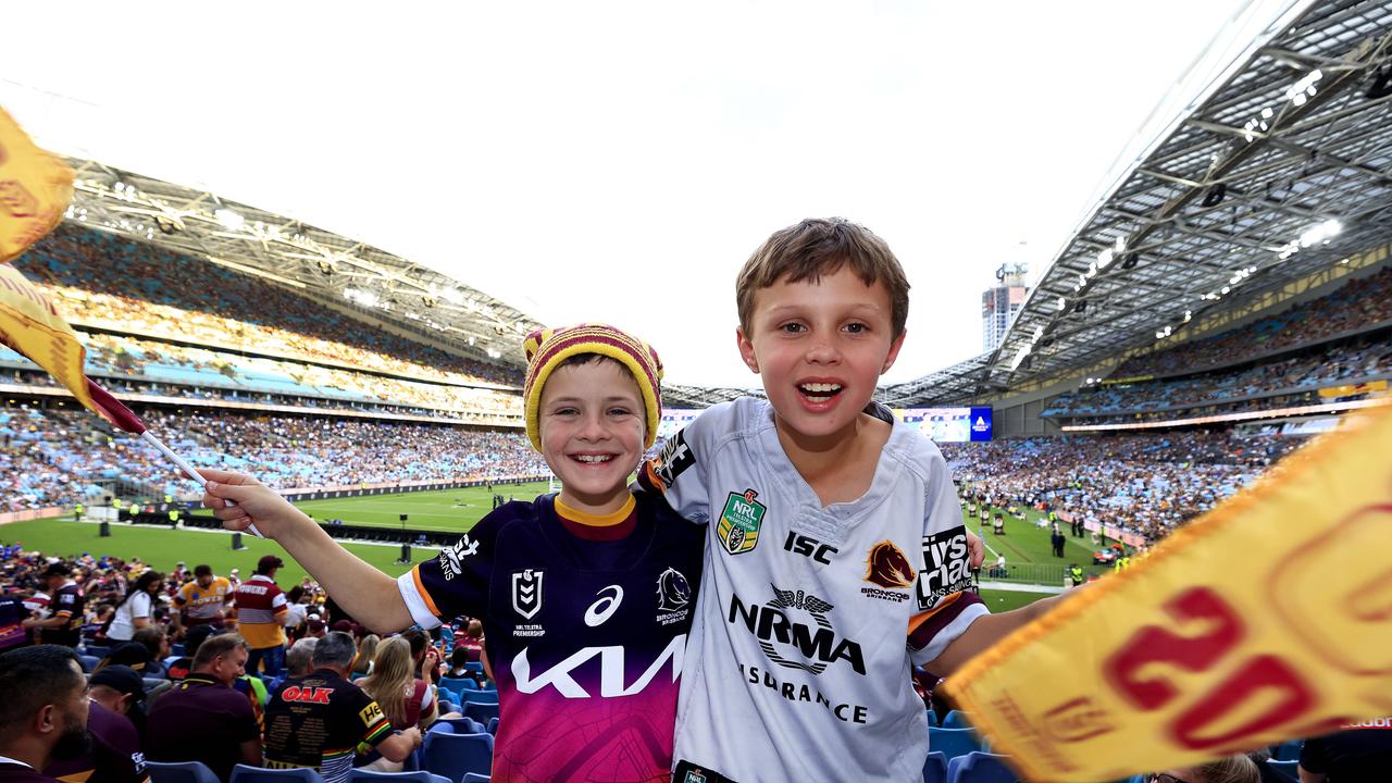
<instances>
[{"instance_id":1,"label":"head of dark-haired bearded man in bottom left corner","mask_svg":"<svg viewBox=\"0 0 1392 783\"><path fill-rule=\"evenodd\" d=\"M39 772L86 752L88 685L70 646L0 655L0 783L52 783Z\"/></svg>"}]
</instances>

